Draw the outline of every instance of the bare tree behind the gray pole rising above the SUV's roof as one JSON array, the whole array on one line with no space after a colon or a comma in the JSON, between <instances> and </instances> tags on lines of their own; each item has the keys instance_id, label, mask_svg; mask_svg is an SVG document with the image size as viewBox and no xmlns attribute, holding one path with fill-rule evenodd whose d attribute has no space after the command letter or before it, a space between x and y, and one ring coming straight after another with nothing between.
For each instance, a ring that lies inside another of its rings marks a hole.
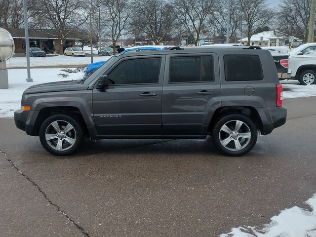
<instances>
[{"instance_id":1,"label":"bare tree behind the gray pole rising above the SUV's roof","mask_svg":"<svg viewBox=\"0 0 316 237\"><path fill-rule=\"evenodd\" d=\"M230 14L230 38L229 42L236 38L237 29L241 24L242 13L240 8L237 7L237 0L231 1L231 14ZM210 17L210 24L213 26L213 30L218 34L223 34L223 28L227 27L227 0L218 0L216 8L212 12Z\"/></svg>"}]
</instances>

